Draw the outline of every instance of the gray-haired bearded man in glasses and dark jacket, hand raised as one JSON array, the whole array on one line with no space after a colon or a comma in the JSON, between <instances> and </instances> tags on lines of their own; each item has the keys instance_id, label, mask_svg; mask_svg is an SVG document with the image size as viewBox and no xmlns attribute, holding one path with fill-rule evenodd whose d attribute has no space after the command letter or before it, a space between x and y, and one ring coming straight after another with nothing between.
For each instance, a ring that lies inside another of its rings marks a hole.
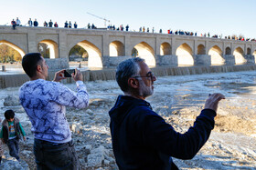
<instances>
[{"instance_id":1,"label":"gray-haired bearded man in glasses and dark jacket, hand raised","mask_svg":"<svg viewBox=\"0 0 256 170\"><path fill-rule=\"evenodd\" d=\"M207 142L214 127L219 101L208 96L205 108L185 134L157 115L145 98L153 95L155 75L142 58L131 58L117 66L119 95L109 112L112 148L120 169L177 169L172 157L192 159Z\"/></svg>"}]
</instances>

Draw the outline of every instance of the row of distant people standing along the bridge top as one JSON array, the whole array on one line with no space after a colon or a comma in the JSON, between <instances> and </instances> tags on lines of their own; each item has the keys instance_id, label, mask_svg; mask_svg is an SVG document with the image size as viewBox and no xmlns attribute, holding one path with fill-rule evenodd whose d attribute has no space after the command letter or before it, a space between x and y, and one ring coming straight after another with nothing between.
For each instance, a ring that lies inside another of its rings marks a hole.
<instances>
[{"instance_id":1,"label":"row of distant people standing along the bridge top","mask_svg":"<svg viewBox=\"0 0 256 170\"><path fill-rule=\"evenodd\" d=\"M18 19L18 17L16 17L16 20L15 19L13 19L12 21L11 21L11 25L13 26L13 29L16 29L16 26L22 26L21 25L21 22L20 22L20 20ZM37 19L35 19L34 20L34 22L31 20L31 18L29 18L29 20L28 20L28 22L27 22L27 24L26 25L28 25L28 26L38 26L38 22L37 22ZM45 21L44 23L43 23L43 25L44 25L44 27L59 27L59 25L58 25L58 23L57 22L55 22L54 24L53 24L53 22L51 21L51 19L50 19L50 21L49 22L47 22L47 21ZM64 28L78 28L78 24L77 24L77 22L75 22L74 23L74 25L72 25L71 24L71 21L69 21L69 23L68 23L68 21L66 21L65 23L64 23L64 26L63 26ZM129 31L129 25L126 25L125 27L123 26L123 25L120 25L120 26L115 26L115 25L108 25L106 28L103 28L103 29L107 29L107 30L113 30L113 31ZM85 27L84 27L85 28ZM87 29L97 29L97 26L95 26L94 24L88 24L87 25ZM101 28L102 29L102 28ZM135 30L133 30L133 31L135 31ZM150 32L150 28L149 27L147 27L147 28L145 28L145 26L141 26L140 28L139 28L139 32L143 32L143 33L155 33L155 27L153 27L152 29L151 29L151 32ZM163 33L163 30L162 29L160 29L159 30L159 33L160 34L162 34ZM212 38L225 38L225 39L230 39L230 40L240 40L240 41L256 41L255 40L255 38L245 38L245 37L243 37L243 36L236 36L236 35L228 35L228 36L222 36L222 34L221 35L211 35L210 36L210 34L208 33L208 34L197 34L197 32L192 32L192 31L183 31L183 30L176 30L176 31L173 31L173 30L171 30L171 29L168 29L167 30L167 34L170 34L170 35L190 35L190 36L203 36L203 37L212 37Z\"/></svg>"}]
</instances>

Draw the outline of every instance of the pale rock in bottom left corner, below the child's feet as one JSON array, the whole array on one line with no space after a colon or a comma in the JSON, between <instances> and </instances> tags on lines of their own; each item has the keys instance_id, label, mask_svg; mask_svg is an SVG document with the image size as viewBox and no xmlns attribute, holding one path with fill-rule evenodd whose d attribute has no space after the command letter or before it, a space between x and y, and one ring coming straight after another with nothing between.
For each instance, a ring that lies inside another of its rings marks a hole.
<instances>
[{"instance_id":1,"label":"pale rock in bottom left corner, below the child's feet","mask_svg":"<svg viewBox=\"0 0 256 170\"><path fill-rule=\"evenodd\" d=\"M29 170L29 166L24 160L17 161L16 158L9 159L5 161L5 163L0 165L0 169L8 169L8 170Z\"/></svg>"}]
</instances>

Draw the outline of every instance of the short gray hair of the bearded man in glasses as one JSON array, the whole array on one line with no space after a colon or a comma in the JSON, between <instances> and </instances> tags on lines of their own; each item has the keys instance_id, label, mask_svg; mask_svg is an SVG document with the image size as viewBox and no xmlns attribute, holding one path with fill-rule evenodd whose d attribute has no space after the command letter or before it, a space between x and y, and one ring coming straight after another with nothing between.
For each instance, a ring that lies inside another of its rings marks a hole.
<instances>
[{"instance_id":1,"label":"short gray hair of the bearded man in glasses","mask_svg":"<svg viewBox=\"0 0 256 170\"><path fill-rule=\"evenodd\" d=\"M144 62L143 58L135 57L124 60L116 67L115 79L123 92L129 91L128 79L140 73L138 63Z\"/></svg>"}]
</instances>

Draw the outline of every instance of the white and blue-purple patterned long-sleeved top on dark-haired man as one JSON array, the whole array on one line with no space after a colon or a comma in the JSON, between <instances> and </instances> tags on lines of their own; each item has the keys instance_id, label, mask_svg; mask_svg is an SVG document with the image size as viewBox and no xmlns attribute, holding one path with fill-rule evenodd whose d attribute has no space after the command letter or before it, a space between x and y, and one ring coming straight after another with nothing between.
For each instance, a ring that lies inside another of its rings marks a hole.
<instances>
[{"instance_id":1,"label":"white and blue-purple patterned long-sleeved top on dark-haired man","mask_svg":"<svg viewBox=\"0 0 256 170\"><path fill-rule=\"evenodd\" d=\"M66 106L85 108L89 95L82 81L77 81L78 93L58 82L43 79L28 81L19 89L20 104L32 123L35 138L54 143L71 140Z\"/></svg>"}]
</instances>

